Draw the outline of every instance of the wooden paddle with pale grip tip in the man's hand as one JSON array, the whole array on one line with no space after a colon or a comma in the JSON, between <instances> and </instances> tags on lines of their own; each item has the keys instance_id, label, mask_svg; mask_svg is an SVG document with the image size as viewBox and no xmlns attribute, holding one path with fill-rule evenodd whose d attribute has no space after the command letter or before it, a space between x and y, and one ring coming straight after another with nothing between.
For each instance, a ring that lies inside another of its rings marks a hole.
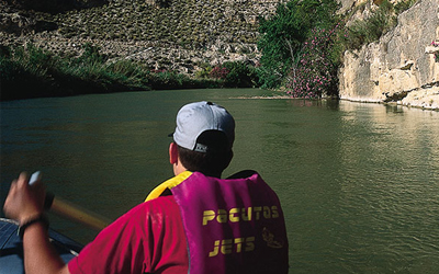
<instances>
[{"instance_id":1,"label":"wooden paddle with pale grip tip in the man's hand","mask_svg":"<svg viewBox=\"0 0 439 274\"><path fill-rule=\"evenodd\" d=\"M41 172L36 171L29 180L29 184L32 185L40 179ZM102 230L111 222L109 219L95 213L91 213L85 208L81 208L78 205L74 205L72 203L64 201L59 197L55 197L55 195L50 192L46 193L44 208L50 209L52 212L60 216L67 217L74 221L80 222L95 230Z\"/></svg>"}]
</instances>

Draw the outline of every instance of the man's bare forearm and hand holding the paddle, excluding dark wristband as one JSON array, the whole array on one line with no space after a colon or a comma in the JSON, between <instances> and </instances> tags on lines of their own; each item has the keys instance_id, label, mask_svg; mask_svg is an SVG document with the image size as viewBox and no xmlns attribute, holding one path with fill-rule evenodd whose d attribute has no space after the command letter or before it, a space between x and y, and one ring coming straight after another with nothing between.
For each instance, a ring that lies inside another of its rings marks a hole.
<instances>
[{"instance_id":1,"label":"man's bare forearm and hand holding the paddle, excluding dark wristband","mask_svg":"<svg viewBox=\"0 0 439 274\"><path fill-rule=\"evenodd\" d=\"M4 214L19 221L20 226L30 222L44 213L45 189L40 182L29 185L25 173L13 181L4 202ZM23 233L24 270L27 274L68 274L63 262L48 239L47 227L42 221L27 226Z\"/></svg>"}]
</instances>

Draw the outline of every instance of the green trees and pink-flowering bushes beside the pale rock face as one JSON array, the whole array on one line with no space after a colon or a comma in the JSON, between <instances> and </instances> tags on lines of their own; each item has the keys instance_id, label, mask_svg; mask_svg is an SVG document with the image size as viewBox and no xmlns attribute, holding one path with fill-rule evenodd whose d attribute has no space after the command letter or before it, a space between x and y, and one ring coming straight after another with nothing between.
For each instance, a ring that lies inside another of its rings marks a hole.
<instances>
[{"instance_id":1,"label":"green trees and pink-flowering bushes beside the pale rock face","mask_svg":"<svg viewBox=\"0 0 439 274\"><path fill-rule=\"evenodd\" d=\"M349 26L345 23L350 14L337 15L335 0L279 4L274 16L260 21L258 46L262 57L258 76L262 88L283 89L295 98L337 96L342 53L378 41L396 25L401 12L416 2L406 0L394 5L384 0L369 18Z\"/></svg>"}]
</instances>

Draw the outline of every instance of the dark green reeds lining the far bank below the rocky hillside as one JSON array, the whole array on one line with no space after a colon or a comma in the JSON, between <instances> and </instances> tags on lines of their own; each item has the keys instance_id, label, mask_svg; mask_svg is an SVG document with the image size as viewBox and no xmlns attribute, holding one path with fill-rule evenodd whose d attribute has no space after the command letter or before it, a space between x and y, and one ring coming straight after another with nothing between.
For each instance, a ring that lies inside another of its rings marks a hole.
<instances>
[{"instance_id":1,"label":"dark green reeds lining the far bank below the rocky hillside","mask_svg":"<svg viewBox=\"0 0 439 274\"><path fill-rule=\"evenodd\" d=\"M190 78L150 70L131 60L109 61L99 48L86 44L79 57L60 57L32 44L0 48L1 100L86 93L188 88L252 87L250 67L227 62L224 79L210 75Z\"/></svg>"}]
</instances>

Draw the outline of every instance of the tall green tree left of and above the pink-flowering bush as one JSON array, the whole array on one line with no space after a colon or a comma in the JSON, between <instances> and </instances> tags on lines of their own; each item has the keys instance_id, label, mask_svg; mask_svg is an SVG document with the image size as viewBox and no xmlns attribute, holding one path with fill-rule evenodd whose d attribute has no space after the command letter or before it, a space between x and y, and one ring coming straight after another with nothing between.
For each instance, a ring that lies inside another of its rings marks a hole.
<instances>
[{"instance_id":1,"label":"tall green tree left of and above the pink-flowering bush","mask_svg":"<svg viewBox=\"0 0 439 274\"><path fill-rule=\"evenodd\" d=\"M258 47L262 56L258 75L262 88L282 84L311 31L334 25L337 8L335 0L292 0L280 3L272 18L260 19Z\"/></svg>"}]
</instances>

